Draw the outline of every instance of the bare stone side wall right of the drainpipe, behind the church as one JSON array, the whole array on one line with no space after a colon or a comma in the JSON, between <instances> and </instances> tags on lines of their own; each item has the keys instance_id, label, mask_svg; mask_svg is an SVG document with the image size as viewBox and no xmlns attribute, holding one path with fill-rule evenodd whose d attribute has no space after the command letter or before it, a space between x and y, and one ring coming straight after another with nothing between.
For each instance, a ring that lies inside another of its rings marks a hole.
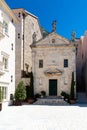
<instances>
[{"instance_id":1,"label":"bare stone side wall right of the drainpipe, behind the church","mask_svg":"<svg viewBox=\"0 0 87 130\"><path fill-rule=\"evenodd\" d=\"M29 72L32 68L32 54L30 45L33 42L32 35L34 32L37 34L37 41L42 38L38 20L30 15L27 15L24 22L24 70L26 71L25 64L28 64Z\"/></svg>"}]
</instances>

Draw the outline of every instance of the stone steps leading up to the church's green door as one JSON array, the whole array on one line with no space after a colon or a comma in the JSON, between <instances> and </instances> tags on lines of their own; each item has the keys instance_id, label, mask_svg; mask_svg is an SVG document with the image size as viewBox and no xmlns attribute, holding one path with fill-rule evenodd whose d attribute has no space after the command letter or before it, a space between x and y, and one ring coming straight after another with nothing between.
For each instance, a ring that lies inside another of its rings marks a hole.
<instances>
[{"instance_id":1,"label":"stone steps leading up to the church's green door","mask_svg":"<svg viewBox=\"0 0 87 130\"><path fill-rule=\"evenodd\" d=\"M38 99L35 105L68 105L63 99Z\"/></svg>"}]
</instances>

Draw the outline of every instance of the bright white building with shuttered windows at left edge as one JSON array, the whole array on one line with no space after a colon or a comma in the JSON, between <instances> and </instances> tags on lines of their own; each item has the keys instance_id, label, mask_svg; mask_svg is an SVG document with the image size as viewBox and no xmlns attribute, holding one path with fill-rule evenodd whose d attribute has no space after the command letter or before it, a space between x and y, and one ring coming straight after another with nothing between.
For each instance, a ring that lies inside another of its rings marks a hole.
<instances>
[{"instance_id":1,"label":"bright white building with shuttered windows at left edge","mask_svg":"<svg viewBox=\"0 0 87 130\"><path fill-rule=\"evenodd\" d=\"M15 26L18 20L4 0L0 0L0 87L3 101L15 91Z\"/></svg>"}]
</instances>

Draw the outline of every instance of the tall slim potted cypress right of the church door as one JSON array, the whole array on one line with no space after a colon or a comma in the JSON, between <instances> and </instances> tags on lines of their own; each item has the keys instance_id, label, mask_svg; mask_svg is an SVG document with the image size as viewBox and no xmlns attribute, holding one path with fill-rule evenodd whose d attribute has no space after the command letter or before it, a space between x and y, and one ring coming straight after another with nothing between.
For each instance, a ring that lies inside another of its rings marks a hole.
<instances>
[{"instance_id":1,"label":"tall slim potted cypress right of the church door","mask_svg":"<svg viewBox=\"0 0 87 130\"><path fill-rule=\"evenodd\" d=\"M75 103L75 90L74 90L74 72L72 72L71 90L70 90L70 104Z\"/></svg>"}]
</instances>

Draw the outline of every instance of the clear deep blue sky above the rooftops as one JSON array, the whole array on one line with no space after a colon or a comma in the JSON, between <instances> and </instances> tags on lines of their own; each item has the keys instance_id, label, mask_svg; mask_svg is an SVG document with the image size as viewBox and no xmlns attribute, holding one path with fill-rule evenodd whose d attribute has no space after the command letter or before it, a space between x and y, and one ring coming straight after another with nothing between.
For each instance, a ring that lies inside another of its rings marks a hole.
<instances>
[{"instance_id":1,"label":"clear deep blue sky above the rooftops","mask_svg":"<svg viewBox=\"0 0 87 130\"><path fill-rule=\"evenodd\" d=\"M39 18L40 25L51 32L57 20L57 33L70 39L87 30L87 0L5 0L10 8L25 8Z\"/></svg>"}]
</instances>

